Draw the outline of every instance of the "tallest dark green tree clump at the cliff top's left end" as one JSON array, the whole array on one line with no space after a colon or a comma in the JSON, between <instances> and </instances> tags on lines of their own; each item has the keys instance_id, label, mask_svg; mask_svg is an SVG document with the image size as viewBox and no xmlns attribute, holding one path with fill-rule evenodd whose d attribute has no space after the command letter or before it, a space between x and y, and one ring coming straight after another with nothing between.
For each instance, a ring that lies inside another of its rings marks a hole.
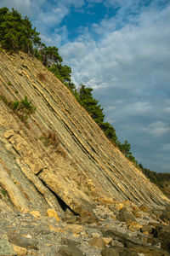
<instances>
[{"instance_id":1,"label":"tallest dark green tree clump at the cliff top's left end","mask_svg":"<svg viewBox=\"0 0 170 256\"><path fill-rule=\"evenodd\" d=\"M0 9L0 44L3 49L32 53L34 46L41 42L38 36L28 17L22 18L15 9Z\"/></svg>"}]
</instances>

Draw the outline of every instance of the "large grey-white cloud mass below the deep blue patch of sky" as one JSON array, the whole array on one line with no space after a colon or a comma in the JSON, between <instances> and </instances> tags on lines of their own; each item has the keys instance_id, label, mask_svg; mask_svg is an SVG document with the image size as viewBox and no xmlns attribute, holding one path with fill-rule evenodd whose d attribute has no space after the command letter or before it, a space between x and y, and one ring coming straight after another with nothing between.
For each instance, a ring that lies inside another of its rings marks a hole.
<instances>
[{"instance_id":1,"label":"large grey-white cloud mass below the deep blue patch of sky","mask_svg":"<svg viewBox=\"0 0 170 256\"><path fill-rule=\"evenodd\" d=\"M170 142L170 6L152 4L119 29L116 21L93 24L92 32L63 45L61 54L77 83L94 88L106 119L131 143L137 160L170 172L169 152L159 151Z\"/></svg>"}]
</instances>

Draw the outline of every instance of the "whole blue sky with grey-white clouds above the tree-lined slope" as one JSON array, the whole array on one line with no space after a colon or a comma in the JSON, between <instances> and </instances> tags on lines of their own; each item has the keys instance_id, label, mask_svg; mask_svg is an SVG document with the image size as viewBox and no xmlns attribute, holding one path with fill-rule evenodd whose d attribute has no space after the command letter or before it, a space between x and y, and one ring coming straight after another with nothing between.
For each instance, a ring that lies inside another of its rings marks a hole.
<instances>
[{"instance_id":1,"label":"whole blue sky with grey-white clouds above the tree-lined slope","mask_svg":"<svg viewBox=\"0 0 170 256\"><path fill-rule=\"evenodd\" d=\"M0 0L59 48L72 81L94 89L136 160L170 172L170 1Z\"/></svg>"}]
</instances>

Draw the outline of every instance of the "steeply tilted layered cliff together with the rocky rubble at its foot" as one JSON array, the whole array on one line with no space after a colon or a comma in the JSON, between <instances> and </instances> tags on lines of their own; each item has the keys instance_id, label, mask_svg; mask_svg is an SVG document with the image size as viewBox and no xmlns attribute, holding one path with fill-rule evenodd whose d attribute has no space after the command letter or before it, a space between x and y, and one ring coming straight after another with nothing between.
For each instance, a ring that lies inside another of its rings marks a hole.
<instances>
[{"instance_id":1,"label":"steeply tilted layered cliff together with the rocky rubble at its foot","mask_svg":"<svg viewBox=\"0 0 170 256\"><path fill-rule=\"evenodd\" d=\"M169 200L53 73L2 50L0 98L0 255L169 255Z\"/></svg>"}]
</instances>

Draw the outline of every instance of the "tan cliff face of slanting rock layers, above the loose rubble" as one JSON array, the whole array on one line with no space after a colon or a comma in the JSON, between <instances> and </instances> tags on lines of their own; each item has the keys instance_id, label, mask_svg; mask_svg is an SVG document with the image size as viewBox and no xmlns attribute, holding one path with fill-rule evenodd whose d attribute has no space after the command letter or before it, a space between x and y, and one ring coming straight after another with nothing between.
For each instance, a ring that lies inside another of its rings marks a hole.
<instances>
[{"instance_id":1,"label":"tan cliff face of slanting rock layers, above the loose rubble","mask_svg":"<svg viewBox=\"0 0 170 256\"><path fill-rule=\"evenodd\" d=\"M100 201L168 202L37 59L1 52L0 95L37 108L25 124L0 101L1 207L82 215Z\"/></svg>"}]
</instances>

